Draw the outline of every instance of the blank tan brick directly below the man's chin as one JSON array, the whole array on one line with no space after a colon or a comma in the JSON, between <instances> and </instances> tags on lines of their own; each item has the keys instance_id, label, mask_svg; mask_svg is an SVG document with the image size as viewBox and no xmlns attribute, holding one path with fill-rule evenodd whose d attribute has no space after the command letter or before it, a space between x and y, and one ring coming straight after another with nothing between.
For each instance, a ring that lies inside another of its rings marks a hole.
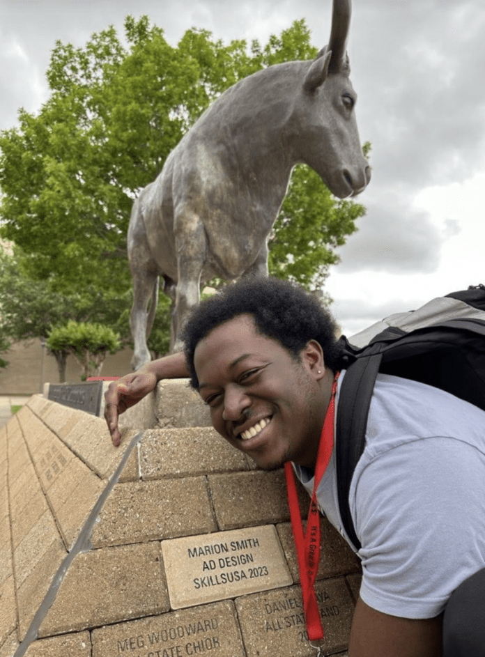
<instances>
[{"instance_id":1,"label":"blank tan brick directly below the man's chin","mask_svg":"<svg viewBox=\"0 0 485 657\"><path fill-rule=\"evenodd\" d=\"M217 523L222 530L289 520L284 472L238 472L208 477Z\"/></svg>"}]
</instances>

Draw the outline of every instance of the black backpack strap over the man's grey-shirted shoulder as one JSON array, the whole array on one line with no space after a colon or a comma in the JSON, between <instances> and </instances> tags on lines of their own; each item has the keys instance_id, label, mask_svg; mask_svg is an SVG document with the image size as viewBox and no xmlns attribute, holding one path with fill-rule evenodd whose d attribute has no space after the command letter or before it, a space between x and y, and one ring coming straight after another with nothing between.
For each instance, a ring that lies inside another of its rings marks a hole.
<instances>
[{"instance_id":1,"label":"black backpack strap over the man's grey-shirted shoulder","mask_svg":"<svg viewBox=\"0 0 485 657\"><path fill-rule=\"evenodd\" d=\"M355 534L348 494L355 466L365 447L367 416L381 360L382 353L369 353L348 366L337 406L335 450L339 511L346 534L357 550L361 545Z\"/></svg>"}]
</instances>

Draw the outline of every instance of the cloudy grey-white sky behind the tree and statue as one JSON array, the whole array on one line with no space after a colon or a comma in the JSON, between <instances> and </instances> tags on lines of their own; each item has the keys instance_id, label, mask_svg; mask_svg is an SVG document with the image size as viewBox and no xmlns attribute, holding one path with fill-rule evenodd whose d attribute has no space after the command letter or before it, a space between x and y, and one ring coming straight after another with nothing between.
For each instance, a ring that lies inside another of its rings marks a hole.
<instances>
[{"instance_id":1,"label":"cloudy grey-white sky behind the tree and statue","mask_svg":"<svg viewBox=\"0 0 485 657\"><path fill-rule=\"evenodd\" d=\"M54 42L84 45L128 14L147 14L176 45L203 27L265 43L305 18L314 45L330 0L0 0L0 129L47 100ZM340 249L328 291L351 335L392 312L485 284L485 3L353 0L348 53L361 141L373 177L367 216Z\"/></svg>"}]
</instances>

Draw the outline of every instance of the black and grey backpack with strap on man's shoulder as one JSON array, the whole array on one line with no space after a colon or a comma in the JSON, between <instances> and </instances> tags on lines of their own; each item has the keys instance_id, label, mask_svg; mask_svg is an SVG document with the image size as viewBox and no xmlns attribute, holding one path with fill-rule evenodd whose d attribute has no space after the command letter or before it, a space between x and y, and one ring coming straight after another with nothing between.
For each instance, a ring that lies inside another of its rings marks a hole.
<instances>
[{"instance_id":1,"label":"black and grey backpack with strap on man's shoulder","mask_svg":"<svg viewBox=\"0 0 485 657\"><path fill-rule=\"evenodd\" d=\"M485 410L485 286L438 297L340 340L346 375L337 411L337 489L342 522L358 550L348 494L364 451L376 376L427 383Z\"/></svg>"}]
</instances>

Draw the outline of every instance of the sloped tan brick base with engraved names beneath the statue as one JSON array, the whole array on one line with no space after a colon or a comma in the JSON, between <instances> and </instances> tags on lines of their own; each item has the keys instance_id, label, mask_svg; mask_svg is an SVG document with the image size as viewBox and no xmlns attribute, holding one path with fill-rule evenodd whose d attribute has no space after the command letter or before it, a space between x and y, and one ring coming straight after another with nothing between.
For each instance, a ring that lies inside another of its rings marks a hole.
<instances>
[{"instance_id":1,"label":"sloped tan brick base with engraved names beneath the statue","mask_svg":"<svg viewBox=\"0 0 485 657\"><path fill-rule=\"evenodd\" d=\"M34 395L0 428L0 657L313 657L284 471L231 449L185 379L120 424L115 448ZM344 657L360 566L321 538L322 656Z\"/></svg>"}]
</instances>

